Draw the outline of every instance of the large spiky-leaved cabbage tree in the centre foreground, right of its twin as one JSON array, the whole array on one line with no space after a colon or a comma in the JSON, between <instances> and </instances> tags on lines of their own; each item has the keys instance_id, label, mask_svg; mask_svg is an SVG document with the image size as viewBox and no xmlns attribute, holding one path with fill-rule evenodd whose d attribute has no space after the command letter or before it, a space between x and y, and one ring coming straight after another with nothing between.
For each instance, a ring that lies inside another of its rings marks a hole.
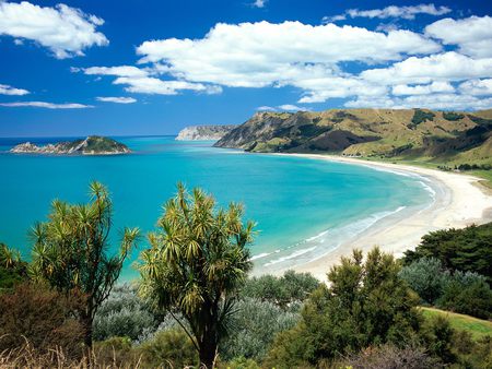
<instances>
[{"instance_id":1,"label":"large spiky-leaved cabbage tree in the centre foreground, right of its twin","mask_svg":"<svg viewBox=\"0 0 492 369\"><path fill-rule=\"evenodd\" d=\"M242 215L239 204L215 210L211 195L201 189L189 193L178 184L176 197L164 205L159 230L149 234L151 248L141 254L141 293L159 308L181 313L189 330L181 326L206 367L214 365L237 289L251 267L246 246L254 224L244 225Z\"/></svg>"}]
</instances>

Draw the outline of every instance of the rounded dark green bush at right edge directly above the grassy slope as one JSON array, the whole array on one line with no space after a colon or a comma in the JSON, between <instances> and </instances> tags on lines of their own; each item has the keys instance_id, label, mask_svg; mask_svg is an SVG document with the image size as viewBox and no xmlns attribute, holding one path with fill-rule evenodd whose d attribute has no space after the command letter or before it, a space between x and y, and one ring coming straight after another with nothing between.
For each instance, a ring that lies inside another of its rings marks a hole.
<instances>
[{"instance_id":1,"label":"rounded dark green bush at right edge directly above the grassy slope","mask_svg":"<svg viewBox=\"0 0 492 369\"><path fill-rule=\"evenodd\" d=\"M489 319L492 312L492 290L482 275L457 271L444 286L443 295L437 300L436 306L442 309Z\"/></svg>"}]
</instances>

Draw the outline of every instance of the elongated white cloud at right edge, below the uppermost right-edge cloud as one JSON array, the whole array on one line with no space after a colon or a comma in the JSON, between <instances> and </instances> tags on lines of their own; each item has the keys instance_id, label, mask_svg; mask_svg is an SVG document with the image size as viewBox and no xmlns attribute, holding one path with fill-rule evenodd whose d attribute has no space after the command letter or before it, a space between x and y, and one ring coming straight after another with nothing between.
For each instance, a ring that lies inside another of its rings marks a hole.
<instances>
[{"instance_id":1,"label":"elongated white cloud at right edge, below the uppermost right-edge cloud","mask_svg":"<svg viewBox=\"0 0 492 369\"><path fill-rule=\"evenodd\" d=\"M492 58L472 59L455 51L429 57L410 57L388 68L368 69L363 80L385 85L464 81L492 75Z\"/></svg>"}]
</instances>

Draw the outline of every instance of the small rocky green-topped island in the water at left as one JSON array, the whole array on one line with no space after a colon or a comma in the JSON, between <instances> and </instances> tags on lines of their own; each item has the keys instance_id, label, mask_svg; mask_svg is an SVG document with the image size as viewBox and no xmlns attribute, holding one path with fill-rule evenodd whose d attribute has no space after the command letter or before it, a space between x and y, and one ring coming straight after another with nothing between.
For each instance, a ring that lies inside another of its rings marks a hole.
<instances>
[{"instance_id":1,"label":"small rocky green-topped island in the water at left","mask_svg":"<svg viewBox=\"0 0 492 369\"><path fill-rule=\"evenodd\" d=\"M113 139L90 135L83 140L65 141L47 145L21 143L10 150L14 154L49 154L49 155L118 155L131 153L127 145Z\"/></svg>"}]
</instances>

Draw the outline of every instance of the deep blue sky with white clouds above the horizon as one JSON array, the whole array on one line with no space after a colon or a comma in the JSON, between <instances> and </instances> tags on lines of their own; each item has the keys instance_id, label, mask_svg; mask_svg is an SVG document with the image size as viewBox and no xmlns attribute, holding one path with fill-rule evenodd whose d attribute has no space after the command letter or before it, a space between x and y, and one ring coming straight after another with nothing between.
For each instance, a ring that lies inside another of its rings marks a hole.
<instances>
[{"instance_id":1,"label":"deep blue sky with white clouds above the horizon","mask_svg":"<svg viewBox=\"0 0 492 369\"><path fill-rule=\"evenodd\" d=\"M0 0L0 138L492 108L492 2Z\"/></svg>"}]
</instances>

